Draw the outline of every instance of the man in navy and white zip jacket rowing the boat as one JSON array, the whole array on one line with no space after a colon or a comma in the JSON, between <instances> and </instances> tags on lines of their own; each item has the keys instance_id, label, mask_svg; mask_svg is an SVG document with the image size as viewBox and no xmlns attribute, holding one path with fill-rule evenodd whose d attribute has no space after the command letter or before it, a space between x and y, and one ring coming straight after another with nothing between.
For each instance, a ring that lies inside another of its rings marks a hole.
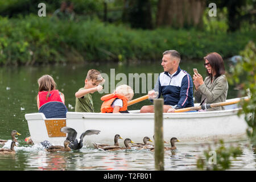
<instances>
[{"instance_id":1,"label":"man in navy and white zip jacket rowing the boat","mask_svg":"<svg viewBox=\"0 0 256 182\"><path fill-rule=\"evenodd\" d=\"M180 54L175 50L165 51L162 58L164 72L160 73L155 88L148 92L149 98L163 95L164 113L172 113L175 109L193 107L193 81L191 76L180 69ZM154 105L143 106L141 113L154 113Z\"/></svg>"}]
</instances>

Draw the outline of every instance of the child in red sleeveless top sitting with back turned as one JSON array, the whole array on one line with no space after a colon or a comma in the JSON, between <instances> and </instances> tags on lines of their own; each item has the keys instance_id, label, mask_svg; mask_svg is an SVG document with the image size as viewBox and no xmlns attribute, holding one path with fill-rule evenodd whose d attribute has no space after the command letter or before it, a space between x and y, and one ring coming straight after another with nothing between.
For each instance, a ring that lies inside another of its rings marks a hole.
<instances>
[{"instance_id":1,"label":"child in red sleeveless top sitting with back turned","mask_svg":"<svg viewBox=\"0 0 256 182\"><path fill-rule=\"evenodd\" d=\"M43 75L38 79L39 92L36 98L38 110L48 102L62 102L65 104L64 94L56 90L56 83L49 75Z\"/></svg>"}]
</instances>

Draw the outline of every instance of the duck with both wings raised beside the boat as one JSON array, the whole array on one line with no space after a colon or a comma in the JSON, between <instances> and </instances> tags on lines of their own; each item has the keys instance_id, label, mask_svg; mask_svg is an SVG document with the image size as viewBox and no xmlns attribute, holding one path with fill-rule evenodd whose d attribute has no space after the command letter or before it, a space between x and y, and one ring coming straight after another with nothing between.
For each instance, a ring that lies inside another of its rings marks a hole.
<instances>
[{"instance_id":1,"label":"duck with both wings raised beside the boat","mask_svg":"<svg viewBox=\"0 0 256 182\"><path fill-rule=\"evenodd\" d=\"M78 141L76 139L77 132L75 129L65 126L65 127L62 127L60 131L68 134L66 140L70 142L68 146L72 150L80 150L80 148L82 148L83 146L82 140L84 139L85 135L97 135L100 133L99 130L86 130L84 133L80 135L80 141Z\"/></svg>"}]
</instances>

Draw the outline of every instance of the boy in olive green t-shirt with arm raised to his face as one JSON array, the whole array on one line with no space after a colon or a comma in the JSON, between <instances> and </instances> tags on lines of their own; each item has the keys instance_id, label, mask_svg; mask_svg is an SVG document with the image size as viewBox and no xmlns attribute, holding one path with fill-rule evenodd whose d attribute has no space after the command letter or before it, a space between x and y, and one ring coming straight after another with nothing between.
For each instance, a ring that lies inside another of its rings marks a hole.
<instances>
[{"instance_id":1,"label":"boy in olive green t-shirt with arm raised to his face","mask_svg":"<svg viewBox=\"0 0 256 182\"><path fill-rule=\"evenodd\" d=\"M96 69L90 69L85 78L85 85L83 88L80 88L76 96L76 112L89 112L94 113L93 100L91 93L96 91L101 91L103 87L100 85L105 80L101 77L101 74Z\"/></svg>"}]
</instances>

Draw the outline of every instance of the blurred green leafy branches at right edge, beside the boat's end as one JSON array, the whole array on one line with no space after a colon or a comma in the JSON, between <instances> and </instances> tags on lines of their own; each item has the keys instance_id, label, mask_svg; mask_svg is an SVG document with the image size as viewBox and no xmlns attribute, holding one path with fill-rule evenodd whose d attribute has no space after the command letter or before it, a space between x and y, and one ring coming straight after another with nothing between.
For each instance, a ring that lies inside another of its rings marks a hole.
<instances>
[{"instance_id":1,"label":"blurred green leafy branches at right edge, beside the boat's end","mask_svg":"<svg viewBox=\"0 0 256 182\"><path fill-rule=\"evenodd\" d=\"M242 60L236 64L236 67L232 67L232 78L229 78L230 83L240 84L241 94L246 95L246 89L250 89L251 98L249 102L242 101L242 110L240 113L245 113L245 120L253 129L247 130L247 134L251 138L251 141L256 144L256 122L255 122L255 106L256 106L256 47L253 41L250 41L245 49L240 52Z\"/></svg>"}]
</instances>

